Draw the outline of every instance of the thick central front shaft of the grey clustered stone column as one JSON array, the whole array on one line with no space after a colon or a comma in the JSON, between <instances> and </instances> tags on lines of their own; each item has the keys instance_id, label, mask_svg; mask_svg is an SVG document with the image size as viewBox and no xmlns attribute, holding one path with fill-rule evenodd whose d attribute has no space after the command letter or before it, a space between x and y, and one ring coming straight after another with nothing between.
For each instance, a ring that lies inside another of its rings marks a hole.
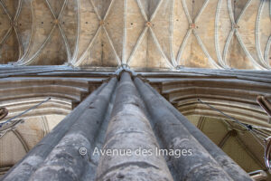
<instances>
[{"instance_id":1,"label":"thick central front shaft of the grey clustered stone column","mask_svg":"<svg viewBox=\"0 0 271 181\"><path fill-rule=\"evenodd\" d=\"M107 154L100 157L97 180L173 180L164 157L155 154L159 146L144 110L134 82L123 72L103 148Z\"/></svg>"}]
</instances>

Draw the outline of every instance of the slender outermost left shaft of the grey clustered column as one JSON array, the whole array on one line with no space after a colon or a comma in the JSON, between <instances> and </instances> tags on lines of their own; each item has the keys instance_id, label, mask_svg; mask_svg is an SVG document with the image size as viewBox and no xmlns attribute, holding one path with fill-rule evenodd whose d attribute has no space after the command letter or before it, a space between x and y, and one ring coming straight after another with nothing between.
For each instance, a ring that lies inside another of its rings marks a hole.
<instances>
[{"instance_id":1,"label":"slender outermost left shaft of the grey clustered column","mask_svg":"<svg viewBox=\"0 0 271 181\"><path fill-rule=\"evenodd\" d=\"M115 78L116 81L116 78ZM70 114L43 138L23 159L12 167L3 177L3 180L25 181L29 180L33 172L41 166L42 162L50 154L52 148L60 142L61 138L68 132L70 127L80 119L82 113L89 108L89 105L97 100L97 95L104 90L107 83L104 82L98 90L94 90L89 97L83 100L78 107L70 112Z\"/></svg>"}]
</instances>

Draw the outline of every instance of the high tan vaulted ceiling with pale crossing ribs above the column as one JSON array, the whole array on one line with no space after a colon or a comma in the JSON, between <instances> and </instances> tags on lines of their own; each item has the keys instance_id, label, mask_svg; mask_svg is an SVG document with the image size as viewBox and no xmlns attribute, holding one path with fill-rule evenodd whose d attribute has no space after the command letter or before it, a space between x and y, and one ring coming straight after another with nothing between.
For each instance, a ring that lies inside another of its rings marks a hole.
<instances>
[{"instance_id":1,"label":"high tan vaulted ceiling with pale crossing ribs above the column","mask_svg":"<svg viewBox=\"0 0 271 181\"><path fill-rule=\"evenodd\" d=\"M266 0L0 0L0 63L270 69Z\"/></svg>"}]
</instances>

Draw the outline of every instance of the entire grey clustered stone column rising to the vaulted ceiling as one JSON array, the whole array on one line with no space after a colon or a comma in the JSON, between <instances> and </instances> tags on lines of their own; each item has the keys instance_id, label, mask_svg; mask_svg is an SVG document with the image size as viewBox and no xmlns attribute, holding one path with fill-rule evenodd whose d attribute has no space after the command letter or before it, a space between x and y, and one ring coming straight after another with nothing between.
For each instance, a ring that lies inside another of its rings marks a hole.
<instances>
[{"instance_id":1,"label":"entire grey clustered stone column rising to the vaulted ceiling","mask_svg":"<svg viewBox=\"0 0 271 181\"><path fill-rule=\"evenodd\" d=\"M115 96L113 110L107 111ZM133 81L127 71L120 72L119 81L111 78L81 102L4 180L88 179L87 166L108 112L104 154L92 173L98 181L251 180L148 83L137 76ZM86 148L88 154L81 155L79 148ZM163 157L157 154L160 148L192 154ZM107 155L107 150L114 149L117 154Z\"/></svg>"}]
</instances>

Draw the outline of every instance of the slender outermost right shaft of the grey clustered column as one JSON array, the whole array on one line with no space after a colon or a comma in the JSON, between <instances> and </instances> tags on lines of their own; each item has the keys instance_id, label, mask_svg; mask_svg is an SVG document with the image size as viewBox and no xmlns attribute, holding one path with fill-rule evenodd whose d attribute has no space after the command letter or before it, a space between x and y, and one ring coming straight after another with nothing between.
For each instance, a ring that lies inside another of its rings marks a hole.
<instances>
[{"instance_id":1,"label":"slender outermost right shaft of the grey clustered column","mask_svg":"<svg viewBox=\"0 0 271 181\"><path fill-rule=\"evenodd\" d=\"M152 88L149 84L146 84L146 86L148 86L150 90L154 91L157 98L161 100L169 110L172 111L173 115L181 121L182 125L201 143L202 147L204 147L210 153L211 157L215 158L215 160L220 164L220 167L222 167L233 180L252 180L248 176L247 172L245 172L229 156L227 156L224 151L222 151L210 140L210 138L205 136L200 129L197 129L188 119L182 116L181 112L176 110L170 102L161 96L161 94L154 90L154 88Z\"/></svg>"}]
</instances>

